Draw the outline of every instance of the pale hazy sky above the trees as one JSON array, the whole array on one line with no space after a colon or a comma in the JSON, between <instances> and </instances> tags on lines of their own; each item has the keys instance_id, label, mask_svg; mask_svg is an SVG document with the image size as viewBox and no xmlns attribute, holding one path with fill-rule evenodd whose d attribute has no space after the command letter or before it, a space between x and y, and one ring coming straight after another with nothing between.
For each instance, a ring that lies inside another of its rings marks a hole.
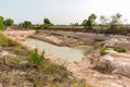
<instances>
[{"instance_id":1,"label":"pale hazy sky above the trees","mask_svg":"<svg viewBox=\"0 0 130 87\"><path fill-rule=\"evenodd\" d=\"M42 24L48 17L57 25L81 23L94 13L110 16L122 14L122 21L130 23L129 0L0 0L0 15L13 18L15 23L31 21ZM99 20L98 17L98 20Z\"/></svg>"}]
</instances>

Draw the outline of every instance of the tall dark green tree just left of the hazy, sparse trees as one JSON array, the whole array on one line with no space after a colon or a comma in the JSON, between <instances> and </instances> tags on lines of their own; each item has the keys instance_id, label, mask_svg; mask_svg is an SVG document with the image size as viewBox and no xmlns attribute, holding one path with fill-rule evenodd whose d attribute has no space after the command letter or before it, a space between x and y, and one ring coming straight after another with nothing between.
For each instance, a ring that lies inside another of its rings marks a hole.
<instances>
[{"instance_id":1,"label":"tall dark green tree just left of the hazy, sparse trees","mask_svg":"<svg viewBox=\"0 0 130 87\"><path fill-rule=\"evenodd\" d=\"M88 20L84 20L82 22L82 25L84 27L88 27L89 29L91 29L92 26L95 24L95 20L96 20L96 15L95 14L90 14L90 16L88 17Z\"/></svg>"}]
</instances>

